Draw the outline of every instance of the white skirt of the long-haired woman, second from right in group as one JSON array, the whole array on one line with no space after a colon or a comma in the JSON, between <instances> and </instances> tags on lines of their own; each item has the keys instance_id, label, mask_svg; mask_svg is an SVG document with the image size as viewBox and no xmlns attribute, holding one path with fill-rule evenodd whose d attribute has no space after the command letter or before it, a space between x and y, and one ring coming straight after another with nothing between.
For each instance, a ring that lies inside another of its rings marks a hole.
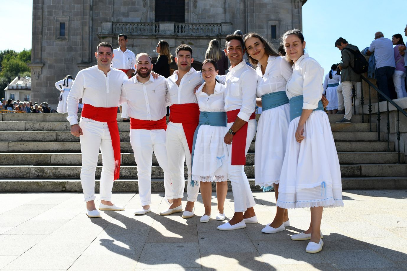
<instances>
[{"instance_id":1,"label":"white skirt of the long-haired woman, second from right in group","mask_svg":"<svg viewBox=\"0 0 407 271\"><path fill-rule=\"evenodd\" d=\"M260 115L254 152L255 183L264 191L280 180L290 124L290 105L283 104Z\"/></svg>"}]
</instances>

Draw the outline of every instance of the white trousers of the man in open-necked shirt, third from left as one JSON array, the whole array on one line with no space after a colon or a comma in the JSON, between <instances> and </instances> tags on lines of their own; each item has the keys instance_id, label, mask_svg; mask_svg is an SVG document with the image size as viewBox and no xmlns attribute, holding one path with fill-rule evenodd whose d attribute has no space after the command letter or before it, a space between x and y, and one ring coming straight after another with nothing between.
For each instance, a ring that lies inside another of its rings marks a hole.
<instances>
[{"instance_id":1,"label":"white trousers of the man in open-necked shirt, third from left","mask_svg":"<svg viewBox=\"0 0 407 271\"><path fill-rule=\"evenodd\" d=\"M184 161L188 168L188 184L186 192L189 202L196 202L199 193L199 185L191 186L191 153L186 141L184 128L180 123L168 123L165 146L168 156L168 168L171 174L173 197L168 199L182 199L184 197L185 177Z\"/></svg>"}]
</instances>

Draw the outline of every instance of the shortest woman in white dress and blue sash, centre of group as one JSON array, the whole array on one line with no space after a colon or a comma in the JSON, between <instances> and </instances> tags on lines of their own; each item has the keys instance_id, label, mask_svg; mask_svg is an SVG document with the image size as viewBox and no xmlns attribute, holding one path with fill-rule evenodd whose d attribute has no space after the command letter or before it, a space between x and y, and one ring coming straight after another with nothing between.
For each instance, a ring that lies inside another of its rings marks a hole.
<instances>
[{"instance_id":1,"label":"shortest woman in white dress and blue sash, centre of group","mask_svg":"<svg viewBox=\"0 0 407 271\"><path fill-rule=\"evenodd\" d=\"M205 82L195 93L200 115L192 148L191 185L200 185L205 213L199 221L208 222L211 218L212 182L216 182L218 200L216 220L225 219L223 205L228 192L228 149L223 143L226 127L225 87L216 80L216 61L206 59L202 64Z\"/></svg>"}]
</instances>

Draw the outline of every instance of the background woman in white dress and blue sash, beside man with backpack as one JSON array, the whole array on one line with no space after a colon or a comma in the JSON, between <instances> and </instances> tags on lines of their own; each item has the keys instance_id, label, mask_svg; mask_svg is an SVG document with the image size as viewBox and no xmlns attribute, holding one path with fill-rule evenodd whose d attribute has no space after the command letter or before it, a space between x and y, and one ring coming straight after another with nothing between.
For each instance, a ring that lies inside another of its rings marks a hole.
<instances>
[{"instance_id":1,"label":"background woman in white dress and blue sash, beside man with backpack","mask_svg":"<svg viewBox=\"0 0 407 271\"><path fill-rule=\"evenodd\" d=\"M324 94L329 101L326 110L328 110L328 114L331 115L335 115L338 112L338 94L336 89L341 82L341 76L336 73L337 66L337 64L331 66L331 70L326 74L324 80Z\"/></svg>"}]
</instances>

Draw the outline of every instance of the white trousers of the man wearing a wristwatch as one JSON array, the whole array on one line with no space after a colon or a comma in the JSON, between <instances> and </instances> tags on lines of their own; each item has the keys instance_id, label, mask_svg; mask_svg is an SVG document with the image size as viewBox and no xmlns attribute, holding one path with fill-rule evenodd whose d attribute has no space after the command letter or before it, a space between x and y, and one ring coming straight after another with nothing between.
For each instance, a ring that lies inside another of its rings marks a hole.
<instances>
[{"instance_id":1,"label":"white trousers of the man wearing a wristwatch","mask_svg":"<svg viewBox=\"0 0 407 271\"><path fill-rule=\"evenodd\" d=\"M226 126L226 132L232 127L233 122L228 123ZM246 137L246 155L249 151L250 143L252 143L254 134L256 134L257 123L256 119L250 119L247 123L247 137ZM245 173L245 167L243 165L232 165L232 144L228 146L228 176L230 183L232 184L234 211L245 212L247 208L256 205L254 202L252 190L250 189L249 180Z\"/></svg>"}]
</instances>

